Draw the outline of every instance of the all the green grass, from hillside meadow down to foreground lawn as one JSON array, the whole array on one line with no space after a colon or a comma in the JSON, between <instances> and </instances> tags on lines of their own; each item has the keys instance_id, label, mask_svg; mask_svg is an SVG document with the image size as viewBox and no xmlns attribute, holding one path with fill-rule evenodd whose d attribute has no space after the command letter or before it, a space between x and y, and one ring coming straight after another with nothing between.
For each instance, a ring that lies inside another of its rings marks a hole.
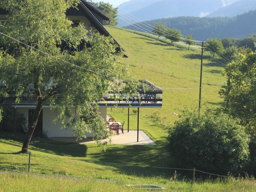
<instances>
[{"instance_id":1,"label":"all the green grass, from hillside meadow down to foreground lawn","mask_svg":"<svg viewBox=\"0 0 256 192\"><path fill-rule=\"evenodd\" d=\"M163 89L199 87L200 50L188 51L116 28L107 27L107 30L129 56L122 59L121 65L128 65L137 79L149 80ZM220 75L223 67L206 54L203 103L208 101L209 105L216 107L223 102L218 95L218 90L224 85L218 83L225 80ZM25 174L28 154L17 153L21 150L24 135L0 133L0 170L24 173L0 172L0 192L143 191L128 188L126 184L155 184L166 188L165 191L179 192L253 192L255 182L250 180L197 180L192 185L192 171L178 171L178 180L170 181L175 169L153 168L172 167L166 148L168 133L161 124L176 121L177 116L173 112L179 114L185 107L195 107L198 93L199 89L164 89L162 109L140 110L140 130L144 130L158 145L108 145L107 151L103 151L96 144L77 145L34 137L29 150L32 152L29 177ZM150 118L156 110L159 118ZM127 121L127 109L113 108L108 113L118 121ZM130 129L136 128L137 115L131 109ZM41 174L56 177L42 177Z\"/></svg>"}]
</instances>

